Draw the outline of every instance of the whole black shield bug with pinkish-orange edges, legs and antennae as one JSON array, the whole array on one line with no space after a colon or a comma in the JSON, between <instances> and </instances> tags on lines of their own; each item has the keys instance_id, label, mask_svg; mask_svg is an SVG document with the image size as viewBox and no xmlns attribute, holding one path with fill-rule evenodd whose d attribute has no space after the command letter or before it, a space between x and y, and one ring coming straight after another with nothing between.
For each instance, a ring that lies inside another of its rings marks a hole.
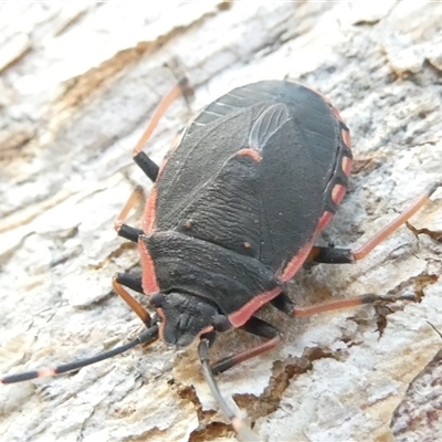
<instances>
[{"instance_id":1,"label":"whole black shield bug with pinkish-orange edges, legs and antennae","mask_svg":"<svg viewBox=\"0 0 442 442\"><path fill-rule=\"evenodd\" d=\"M254 433L220 394L214 375L274 348L281 332L254 314L271 303L291 316L393 297L365 295L296 307L284 293L305 262L352 263L418 211L433 185L362 246L315 245L347 189L352 156L339 113L320 94L287 81L238 87L208 105L181 133L159 168L141 150L181 82L160 103L134 149L134 160L154 182L143 228L124 223L141 194L135 191L116 221L118 234L138 244L141 275L120 273L115 291L147 329L90 359L7 376L19 382L78 369L138 344L161 339L178 348L199 343L204 377L224 414L244 440ZM126 291L148 296L154 316ZM210 365L217 333L242 328L263 343Z\"/></svg>"}]
</instances>

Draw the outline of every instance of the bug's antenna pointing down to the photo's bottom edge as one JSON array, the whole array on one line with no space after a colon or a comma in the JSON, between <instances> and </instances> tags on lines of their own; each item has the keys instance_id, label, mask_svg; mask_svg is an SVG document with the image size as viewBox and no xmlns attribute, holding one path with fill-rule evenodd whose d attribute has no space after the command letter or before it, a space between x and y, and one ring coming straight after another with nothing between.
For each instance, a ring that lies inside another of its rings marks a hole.
<instances>
[{"instance_id":1,"label":"bug's antenna pointing down to the photo's bottom edge","mask_svg":"<svg viewBox=\"0 0 442 442\"><path fill-rule=\"evenodd\" d=\"M203 338L200 340L198 346L198 356L201 361L202 372L213 394L213 398L220 406L221 411L230 420L234 431L238 433L238 438L243 442L260 442L260 436L250 427L248 427L242 419L236 417L234 411L229 407L224 398L221 396L218 383L213 377L212 370L210 369L208 339Z\"/></svg>"}]
</instances>

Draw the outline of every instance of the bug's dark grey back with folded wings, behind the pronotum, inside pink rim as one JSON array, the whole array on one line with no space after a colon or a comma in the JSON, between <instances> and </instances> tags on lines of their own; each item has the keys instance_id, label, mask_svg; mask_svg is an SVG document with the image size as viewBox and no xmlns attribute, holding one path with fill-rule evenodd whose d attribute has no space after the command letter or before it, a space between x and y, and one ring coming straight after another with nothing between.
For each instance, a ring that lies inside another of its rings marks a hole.
<instances>
[{"instance_id":1,"label":"bug's dark grey back with folded wings, behind the pronotum, inside pink rim","mask_svg":"<svg viewBox=\"0 0 442 442\"><path fill-rule=\"evenodd\" d=\"M233 90L189 127L157 183L156 230L257 257L274 273L313 240L330 199L339 123L288 82ZM257 151L262 160L239 155Z\"/></svg>"}]
</instances>

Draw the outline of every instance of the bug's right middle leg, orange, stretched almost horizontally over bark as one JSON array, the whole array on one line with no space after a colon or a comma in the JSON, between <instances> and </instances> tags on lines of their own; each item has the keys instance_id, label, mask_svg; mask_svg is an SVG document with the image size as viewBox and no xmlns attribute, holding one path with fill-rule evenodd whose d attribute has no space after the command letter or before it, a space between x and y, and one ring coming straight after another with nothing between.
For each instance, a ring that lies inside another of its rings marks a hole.
<instances>
[{"instance_id":1,"label":"bug's right middle leg, orange, stretched almost horizontally over bark","mask_svg":"<svg viewBox=\"0 0 442 442\"><path fill-rule=\"evenodd\" d=\"M417 297L412 294L404 294L400 296L388 296L388 295L376 295L369 293L367 295L354 296L345 299L327 301L325 303L308 305L306 307L296 307L285 293L281 293L277 297L275 297L272 301L272 304L276 308L278 308L280 311L284 312L290 316L306 317L316 315L318 313L333 312L348 307L357 307L358 305L364 305L364 304L375 304L378 302L393 303L400 299L417 301Z\"/></svg>"}]
</instances>

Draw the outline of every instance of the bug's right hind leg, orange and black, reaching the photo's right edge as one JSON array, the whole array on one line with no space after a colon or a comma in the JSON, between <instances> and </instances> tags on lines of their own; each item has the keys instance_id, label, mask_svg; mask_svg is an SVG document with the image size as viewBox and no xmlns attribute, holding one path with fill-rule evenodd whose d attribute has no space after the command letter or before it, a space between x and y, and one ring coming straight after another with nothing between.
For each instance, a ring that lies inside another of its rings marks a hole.
<instances>
[{"instance_id":1,"label":"bug's right hind leg, orange and black, reaching the photo's right edge","mask_svg":"<svg viewBox=\"0 0 442 442\"><path fill-rule=\"evenodd\" d=\"M393 233L400 225L406 223L435 192L442 187L442 181L432 185L423 194L418 197L403 212L381 229L375 236L370 238L361 246L351 249L335 249L314 246L308 255L308 261L327 264L351 264L367 256L377 245Z\"/></svg>"}]
</instances>

